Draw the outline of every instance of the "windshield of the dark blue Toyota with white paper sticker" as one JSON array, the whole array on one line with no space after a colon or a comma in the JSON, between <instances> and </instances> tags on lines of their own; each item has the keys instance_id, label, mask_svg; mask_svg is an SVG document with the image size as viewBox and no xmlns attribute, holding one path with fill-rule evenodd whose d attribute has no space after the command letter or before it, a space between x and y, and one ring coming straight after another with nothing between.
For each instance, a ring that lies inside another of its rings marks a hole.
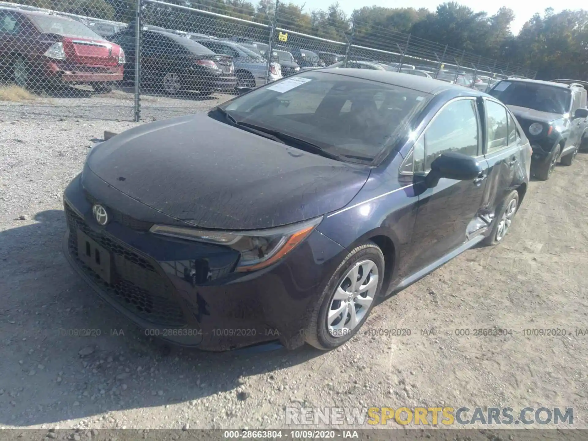
<instances>
[{"instance_id":1,"label":"windshield of the dark blue Toyota with white paper sticker","mask_svg":"<svg viewBox=\"0 0 588 441\"><path fill-rule=\"evenodd\" d=\"M407 131L430 95L328 72L270 83L221 108L237 122L318 145L344 161L374 163Z\"/></svg>"}]
</instances>

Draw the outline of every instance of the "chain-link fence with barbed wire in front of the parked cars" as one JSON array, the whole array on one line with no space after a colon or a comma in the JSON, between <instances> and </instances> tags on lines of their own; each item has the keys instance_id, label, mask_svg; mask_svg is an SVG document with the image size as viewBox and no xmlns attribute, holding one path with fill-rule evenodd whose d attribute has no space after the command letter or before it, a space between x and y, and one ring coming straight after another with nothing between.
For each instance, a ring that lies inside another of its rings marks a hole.
<instances>
[{"instance_id":1,"label":"chain-link fence with barbed wire in front of the parked cars","mask_svg":"<svg viewBox=\"0 0 588 441\"><path fill-rule=\"evenodd\" d=\"M321 25L329 38L320 38L296 29L280 6L251 15L201 1L0 2L0 109L161 119L323 66L430 76L479 90L510 75L535 75L368 23Z\"/></svg>"}]
</instances>

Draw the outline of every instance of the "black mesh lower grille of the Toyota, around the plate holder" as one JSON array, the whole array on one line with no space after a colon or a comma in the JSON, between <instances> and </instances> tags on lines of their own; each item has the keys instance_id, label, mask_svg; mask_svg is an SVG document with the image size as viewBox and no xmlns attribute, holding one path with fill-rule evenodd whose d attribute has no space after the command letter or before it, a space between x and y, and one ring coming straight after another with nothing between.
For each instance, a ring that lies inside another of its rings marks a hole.
<instances>
[{"instance_id":1,"label":"black mesh lower grille of the Toyota, around the plate holder","mask_svg":"<svg viewBox=\"0 0 588 441\"><path fill-rule=\"evenodd\" d=\"M153 325L186 325L185 316L175 299L171 282L156 272L148 260L125 244L96 233L67 203L65 203L65 215L69 228L69 253L79 268L90 276L103 292L119 305ZM111 283L103 280L98 273L78 258L77 229L82 230L111 254L113 269Z\"/></svg>"}]
</instances>

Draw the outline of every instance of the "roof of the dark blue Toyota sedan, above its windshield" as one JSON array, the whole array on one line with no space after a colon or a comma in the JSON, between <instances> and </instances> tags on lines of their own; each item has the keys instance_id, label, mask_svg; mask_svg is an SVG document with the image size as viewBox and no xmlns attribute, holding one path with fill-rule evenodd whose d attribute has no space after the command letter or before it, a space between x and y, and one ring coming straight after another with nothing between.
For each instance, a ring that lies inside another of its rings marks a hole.
<instances>
[{"instance_id":1,"label":"roof of the dark blue Toyota sedan, above its windshield","mask_svg":"<svg viewBox=\"0 0 588 441\"><path fill-rule=\"evenodd\" d=\"M395 86L413 89L415 91L430 93L437 95L437 93L453 90L456 92L470 91L471 95L487 96L486 93L477 91L476 89L464 88L456 84L446 83L426 76L406 75L399 72L389 71L375 71L372 69L354 69L354 68L322 68L322 72L329 72L331 74L339 74L346 76L353 76L355 78L362 78L368 81L378 81Z\"/></svg>"}]
</instances>

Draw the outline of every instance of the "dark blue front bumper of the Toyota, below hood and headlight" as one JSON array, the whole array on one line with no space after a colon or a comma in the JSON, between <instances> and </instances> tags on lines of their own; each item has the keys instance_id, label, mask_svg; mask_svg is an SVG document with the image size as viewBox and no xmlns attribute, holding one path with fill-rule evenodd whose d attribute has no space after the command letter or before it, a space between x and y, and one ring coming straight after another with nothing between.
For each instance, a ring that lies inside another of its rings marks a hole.
<instances>
[{"instance_id":1,"label":"dark blue front bumper of the Toyota, below hood and headlight","mask_svg":"<svg viewBox=\"0 0 588 441\"><path fill-rule=\"evenodd\" d=\"M276 340L289 349L302 345L309 312L346 255L315 230L286 259L237 274L232 272L236 252L149 233L149 222L122 213L121 206L133 203L129 198L121 205L121 193L112 188L97 192L113 215L108 225L99 226L92 217L98 199L88 191L78 176L64 193L66 258L103 300L146 335L178 345L204 350ZM104 191L118 193L113 198L117 206L109 205ZM78 230L108 250L109 283L79 258Z\"/></svg>"}]
</instances>

